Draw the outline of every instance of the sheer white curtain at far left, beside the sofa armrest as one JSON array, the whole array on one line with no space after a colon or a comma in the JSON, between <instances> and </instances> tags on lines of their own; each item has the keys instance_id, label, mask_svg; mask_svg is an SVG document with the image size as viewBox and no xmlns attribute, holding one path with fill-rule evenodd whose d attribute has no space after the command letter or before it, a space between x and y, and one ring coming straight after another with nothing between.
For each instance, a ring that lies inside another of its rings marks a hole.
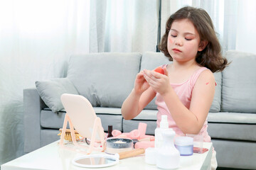
<instances>
[{"instance_id":1,"label":"sheer white curtain at far left, beside the sofa armrest","mask_svg":"<svg viewBox=\"0 0 256 170\"><path fill-rule=\"evenodd\" d=\"M90 52L90 1L0 1L0 164L23 154L23 89Z\"/></svg>"}]
</instances>

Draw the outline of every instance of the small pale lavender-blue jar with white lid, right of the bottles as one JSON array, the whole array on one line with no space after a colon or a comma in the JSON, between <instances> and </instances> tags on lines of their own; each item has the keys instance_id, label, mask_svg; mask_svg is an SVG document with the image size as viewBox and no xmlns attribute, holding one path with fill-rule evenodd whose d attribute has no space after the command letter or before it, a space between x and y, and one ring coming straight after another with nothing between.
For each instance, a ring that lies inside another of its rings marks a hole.
<instances>
[{"instance_id":1,"label":"small pale lavender-blue jar with white lid, right of the bottles","mask_svg":"<svg viewBox=\"0 0 256 170\"><path fill-rule=\"evenodd\" d=\"M181 156L190 156L193 154L193 137L176 137L174 146Z\"/></svg>"}]
</instances>

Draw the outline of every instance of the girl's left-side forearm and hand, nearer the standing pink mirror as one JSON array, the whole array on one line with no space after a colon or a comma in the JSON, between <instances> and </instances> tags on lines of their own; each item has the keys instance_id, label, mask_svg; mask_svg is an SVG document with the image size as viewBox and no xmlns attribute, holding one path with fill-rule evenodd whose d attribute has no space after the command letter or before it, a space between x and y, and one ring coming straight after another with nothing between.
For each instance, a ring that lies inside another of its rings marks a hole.
<instances>
[{"instance_id":1,"label":"girl's left-side forearm and hand, nearer the standing pink mirror","mask_svg":"<svg viewBox=\"0 0 256 170\"><path fill-rule=\"evenodd\" d=\"M121 113L125 120L135 118L142 109L156 96L155 91L149 86L143 77L143 73L137 74L134 89L122 104Z\"/></svg>"}]
</instances>

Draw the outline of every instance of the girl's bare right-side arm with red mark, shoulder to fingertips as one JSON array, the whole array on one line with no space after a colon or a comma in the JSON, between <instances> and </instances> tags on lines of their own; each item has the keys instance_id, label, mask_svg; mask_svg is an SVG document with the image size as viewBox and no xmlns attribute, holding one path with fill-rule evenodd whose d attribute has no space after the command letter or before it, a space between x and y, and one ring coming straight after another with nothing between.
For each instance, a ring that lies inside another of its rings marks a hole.
<instances>
[{"instance_id":1,"label":"girl's bare right-side arm with red mark, shoulder to fingertips","mask_svg":"<svg viewBox=\"0 0 256 170\"><path fill-rule=\"evenodd\" d=\"M166 71L166 70L165 70ZM172 118L183 133L198 134L203 127L215 93L215 79L209 70L203 71L193 88L190 108L181 103L166 75L146 72L152 89L164 98Z\"/></svg>"}]
</instances>

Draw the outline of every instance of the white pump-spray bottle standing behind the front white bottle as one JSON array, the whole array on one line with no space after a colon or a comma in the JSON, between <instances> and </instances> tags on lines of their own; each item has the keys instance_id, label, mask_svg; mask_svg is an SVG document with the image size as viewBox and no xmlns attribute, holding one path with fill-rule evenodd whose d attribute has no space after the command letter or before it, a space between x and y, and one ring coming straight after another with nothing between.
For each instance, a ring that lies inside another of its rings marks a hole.
<instances>
[{"instance_id":1,"label":"white pump-spray bottle standing behind the front white bottle","mask_svg":"<svg viewBox=\"0 0 256 170\"><path fill-rule=\"evenodd\" d=\"M160 127L155 130L155 148L159 149L163 143L162 132L164 131L173 131L169 128L169 123L167 120L167 115L161 115Z\"/></svg>"}]
</instances>

